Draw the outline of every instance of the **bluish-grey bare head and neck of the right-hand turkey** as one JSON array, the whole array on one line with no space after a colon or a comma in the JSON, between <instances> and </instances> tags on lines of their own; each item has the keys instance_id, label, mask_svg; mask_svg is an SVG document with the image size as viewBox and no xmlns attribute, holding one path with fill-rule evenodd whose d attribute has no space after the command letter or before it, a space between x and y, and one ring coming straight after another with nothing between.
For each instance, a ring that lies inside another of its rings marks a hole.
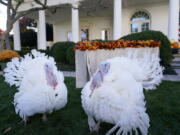
<instances>
[{"instance_id":1,"label":"bluish-grey bare head and neck of the right-hand turkey","mask_svg":"<svg viewBox=\"0 0 180 135\"><path fill-rule=\"evenodd\" d=\"M93 93L94 89L99 88L101 86L101 84L104 80L104 77L108 73L109 69L110 69L109 63L104 63L99 66L99 70L93 76L92 83L90 85L90 89L92 90L92 93ZM92 95L92 93L91 93L91 95Z\"/></svg>"}]
</instances>

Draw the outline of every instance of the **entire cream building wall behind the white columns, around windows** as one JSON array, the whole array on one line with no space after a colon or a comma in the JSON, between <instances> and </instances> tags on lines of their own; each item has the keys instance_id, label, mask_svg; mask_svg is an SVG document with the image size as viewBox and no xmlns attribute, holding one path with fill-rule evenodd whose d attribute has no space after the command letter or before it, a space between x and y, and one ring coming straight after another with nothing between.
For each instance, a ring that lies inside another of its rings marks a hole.
<instances>
[{"instance_id":1,"label":"entire cream building wall behind the white columns, around windows","mask_svg":"<svg viewBox=\"0 0 180 135\"><path fill-rule=\"evenodd\" d=\"M151 17L151 30L159 30L167 35L168 32L168 2L123 8L122 36L130 33L130 18L138 10L145 10ZM81 12L81 11L80 11ZM80 18L80 29L89 28L89 39L101 39L101 30L108 29L109 40L112 40L113 15L107 17ZM67 41L67 33L71 31L71 20L54 22L54 42Z\"/></svg>"}]
</instances>

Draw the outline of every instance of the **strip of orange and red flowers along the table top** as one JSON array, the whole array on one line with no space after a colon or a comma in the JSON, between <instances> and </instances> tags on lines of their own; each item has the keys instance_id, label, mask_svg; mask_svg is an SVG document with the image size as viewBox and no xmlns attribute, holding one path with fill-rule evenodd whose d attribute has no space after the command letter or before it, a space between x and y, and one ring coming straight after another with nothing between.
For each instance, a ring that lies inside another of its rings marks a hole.
<instances>
[{"instance_id":1,"label":"strip of orange and red flowers along the table top","mask_svg":"<svg viewBox=\"0 0 180 135\"><path fill-rule=\"evenodd\" d=\"M146 41L129 41L129 40L117 40L117 41L81 41L75 46L76 50L97 50L97 49L115 49L115 48L140 48L140 47L159 47L160 41L146 40Z\"/></svg>"}]
</instances>

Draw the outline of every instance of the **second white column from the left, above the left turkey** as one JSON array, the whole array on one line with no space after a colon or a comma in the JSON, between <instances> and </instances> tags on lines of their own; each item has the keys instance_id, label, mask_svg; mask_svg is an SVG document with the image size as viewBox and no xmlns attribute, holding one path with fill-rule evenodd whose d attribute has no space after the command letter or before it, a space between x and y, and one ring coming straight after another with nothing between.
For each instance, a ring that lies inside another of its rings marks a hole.
<instances>
[{"instance_id":1,"label":"second white column from the left, above the left turkey","mask_svg":"<svg viewBox=\"0 0 180 135\"><path fill-rule=\"evenodd\" d=\"M38 49L46 50L46 17L45 10L39 11Z\"/></svg>"}]
</instances>

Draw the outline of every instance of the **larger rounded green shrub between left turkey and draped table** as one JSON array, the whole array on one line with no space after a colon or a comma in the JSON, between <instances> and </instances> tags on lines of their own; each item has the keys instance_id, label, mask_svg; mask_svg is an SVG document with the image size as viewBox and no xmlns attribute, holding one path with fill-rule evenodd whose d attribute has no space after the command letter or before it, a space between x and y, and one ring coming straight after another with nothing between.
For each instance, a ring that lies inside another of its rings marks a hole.
<instances>
[{"instance_id":1,"label":"larger rounded green shrub between left turkey and draped table","mask_svg":"<svg viewBox=\"0 0 180 135\"><path fill-rule=\"evenodd\" d=\"M66 59L66 52L67 52L67 49L71 46L75 46L75 43L74 42L57 42L52 46L50 50L50 55L55 58L56 62L68 63Z\"/></svg>"}]
</instances>

